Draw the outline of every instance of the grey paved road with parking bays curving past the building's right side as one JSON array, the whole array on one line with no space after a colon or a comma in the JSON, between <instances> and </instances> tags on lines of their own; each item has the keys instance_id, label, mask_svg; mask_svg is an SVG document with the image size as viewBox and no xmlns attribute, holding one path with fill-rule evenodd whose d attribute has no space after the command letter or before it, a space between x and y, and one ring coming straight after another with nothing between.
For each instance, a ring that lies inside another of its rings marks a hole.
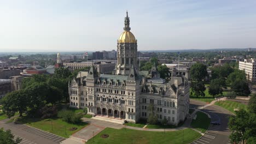
<instances>
[{"instance_id":1,"label":"grey paved road with parking bays curving past the building's right side","mask_svg":"<svg viewBox=\"0 0 256 144\"><path fill-rule=\"evenodd\" d=\"M190 99L190 108L197 109L197 107L203 105L206 105L206 103ZM228 129L228 121L229 116L233 114L216 105L205 107L205 109L202 109L201 111L208 113L211 116L211 121L218 121L220 122L220 125L211 125L207 133L201 137L201 139L195 141L194 144L229 144L230 131Z\"/></svg>"}]
</instances>

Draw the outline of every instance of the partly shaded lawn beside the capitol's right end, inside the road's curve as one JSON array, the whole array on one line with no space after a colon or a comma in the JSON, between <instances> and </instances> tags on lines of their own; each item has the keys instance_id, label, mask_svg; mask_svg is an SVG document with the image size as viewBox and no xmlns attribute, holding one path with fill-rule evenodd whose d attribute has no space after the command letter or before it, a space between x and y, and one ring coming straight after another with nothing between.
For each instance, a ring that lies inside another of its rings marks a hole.
<instances>
[{"instance_id":1,"label":"partly shaded lawn beside the capitol's right end, inside the road's curve","mask_svg":"<svg viewBox=\"0 0 256 144\"><path fill-rule=\"evenodd\" d=\"M211 118L209 118L205 113L201 111L196 112L196 115L196 119L193 119L191 122L191 127L200 130L202 133L205 133L211 123Z\"/></svg>"}]
</instances>

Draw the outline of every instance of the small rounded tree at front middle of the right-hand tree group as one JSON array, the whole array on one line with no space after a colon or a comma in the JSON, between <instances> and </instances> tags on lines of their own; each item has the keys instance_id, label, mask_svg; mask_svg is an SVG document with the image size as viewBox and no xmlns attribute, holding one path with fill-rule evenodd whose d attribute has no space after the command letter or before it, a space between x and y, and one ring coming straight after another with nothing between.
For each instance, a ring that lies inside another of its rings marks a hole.
<instances>
[{"instance_id":1,"label":"small rounded tree at front middle of the right-hand tree group","mask_svg":"<svg viewBox=\"0 0 256 144\"><path fill-rule=\"evenodd\" d=\"M210 82L210 87L209 87L209 94L211 94L213 97L218 94L222 94L223 89L222 89L222 80L221 79L214 79L211 80Z\"/></svg>"}]
</instances>

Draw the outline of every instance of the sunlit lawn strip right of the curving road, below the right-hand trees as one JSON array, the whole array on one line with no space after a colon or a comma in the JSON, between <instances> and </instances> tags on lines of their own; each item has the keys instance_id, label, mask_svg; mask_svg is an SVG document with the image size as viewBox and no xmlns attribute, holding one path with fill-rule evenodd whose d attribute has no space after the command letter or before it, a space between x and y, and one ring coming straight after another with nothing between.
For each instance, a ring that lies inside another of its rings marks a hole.
<instances>
[{"instance_id":1,"label":"sunlit lawn strip right of the curving road, below the right-hand trees","mask_svg":"<svg viewBox=\"0 0 256 144\"><path fill-rule=\"evenodd\" d=\"M245 109L247 110L247 105L238 103L236 101L216 101L215 105L223 107L226 110L229 110L232 113L235 113L234 109Z\"/></svg>"}]
</instances>

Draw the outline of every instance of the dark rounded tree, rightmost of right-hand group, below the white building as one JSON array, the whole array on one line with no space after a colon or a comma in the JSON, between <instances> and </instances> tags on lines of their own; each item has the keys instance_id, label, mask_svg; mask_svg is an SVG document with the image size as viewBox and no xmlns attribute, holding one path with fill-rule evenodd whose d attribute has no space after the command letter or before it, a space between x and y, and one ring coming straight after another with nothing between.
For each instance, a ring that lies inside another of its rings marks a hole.
<instances>
[{"instance_id":1,"label":"dark rounded tree, rightmost of right-hand group, below the white building","mask_svg":"<svg viewBox=\"0 0 256 144\"><path fill-rule=\"evenodd\" d=\"M235 80L232 83L231 91L234 91L237 95L243 95L243 96L248 96L251 93L248 82L240 79Z\"/></svg>"}]
</instances>

